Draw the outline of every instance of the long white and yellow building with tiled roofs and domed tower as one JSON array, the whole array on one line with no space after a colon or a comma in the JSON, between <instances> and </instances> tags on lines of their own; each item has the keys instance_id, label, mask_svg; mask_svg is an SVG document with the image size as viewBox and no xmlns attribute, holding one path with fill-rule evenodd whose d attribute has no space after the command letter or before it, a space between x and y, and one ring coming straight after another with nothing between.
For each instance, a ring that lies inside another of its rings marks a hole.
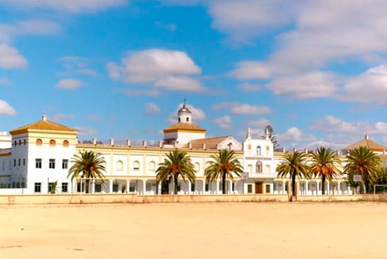
<instances>
[{"instance_id":1,"label":"long white and yellow building with tiled roofs and domed tower","mask_svg":"<svg viewBox=\"0 0 387 259\"><path fill-rule=\"evenodd\" d=\"M84 150L99 152L106 160L106 179L93 181L91 192L162 194L166 190L156 183L156 170L165 154L173 149L186 151L196 170L194 183L179 182L182 194L222 193L219 181L209 183L204 177L206 163L219 149L234 150L246 172L243 177L228 180L228 194L287 193L289 179L277 178L276 172L284 153L274 152L267 132L263 139L253 138L248 129L243 143L232 136L206 138L205 129L192 119L191 110L184 103L177 123L165 128L164 139L157 145L148 145L146 141L135 145L129 140L125 145L117 145L114 139L109 144L95 139L80 144L77 130L51 122L43 115L42 120L11 130L11 135L1 132L0 194L47 194L54 183L57 193L80 191L80 183L68 179L68 169L72 157ZM321 194L320 179L299 182L300 194ZM327 182L326 190L327 194L351 194L345 179Z\"/></svg>"}]
</instances>

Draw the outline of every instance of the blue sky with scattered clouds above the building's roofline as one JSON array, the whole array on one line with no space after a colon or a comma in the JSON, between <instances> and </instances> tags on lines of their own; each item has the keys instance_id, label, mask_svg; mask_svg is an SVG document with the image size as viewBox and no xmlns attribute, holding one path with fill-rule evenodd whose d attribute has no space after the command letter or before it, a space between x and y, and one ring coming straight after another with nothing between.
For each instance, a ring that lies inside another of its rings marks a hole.
<instances>
[{"instance_id":1,"label":"blue sky with scattered clouds above the building's roofline","mask_svg":"<svg viewBox=\"0 0 387 259\"><path fill-rule=\"evenodd\" d=\"M387 143L383 1L0 0L0 130L160 140L184 99L208 137Z\"/></svg>"}]
</instances>

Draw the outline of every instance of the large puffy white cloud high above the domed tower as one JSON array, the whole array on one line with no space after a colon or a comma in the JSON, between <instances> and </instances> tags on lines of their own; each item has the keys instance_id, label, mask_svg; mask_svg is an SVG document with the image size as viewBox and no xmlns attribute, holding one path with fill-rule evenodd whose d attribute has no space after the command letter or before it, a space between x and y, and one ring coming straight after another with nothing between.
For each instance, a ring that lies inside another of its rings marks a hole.
<instances>
[{"instance_id":1,"label":"large puffy white cloud high above the domed tower","mask_svg":"<svg viewBox=\"0 0 387 259\"><path fill-rule=\"evenodd\" d=\"M122 58L121 65L108 62L106 68L113 80L126 84L151 84L153 87L179 91L205 89L192 77L200 74L201 68L183 51L134 51Z\"/></svg>"}]
</instances>

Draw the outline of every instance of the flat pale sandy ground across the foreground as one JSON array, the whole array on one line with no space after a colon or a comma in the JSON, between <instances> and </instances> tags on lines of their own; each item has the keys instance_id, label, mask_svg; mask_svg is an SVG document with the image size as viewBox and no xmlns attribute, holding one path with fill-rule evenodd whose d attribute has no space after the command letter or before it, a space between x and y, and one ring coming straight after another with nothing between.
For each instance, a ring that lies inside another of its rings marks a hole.
<instances>
[{"instance_id":1,"label":"flat pale sandy ground across the foreground","mask_svg":"<svg viewBox=\"0 0 387 259\"><path fill-rule=\"evenodd\" d=\"M0 258L387 258L387 203L0 206Z\"/></svg>"}]
</instances>

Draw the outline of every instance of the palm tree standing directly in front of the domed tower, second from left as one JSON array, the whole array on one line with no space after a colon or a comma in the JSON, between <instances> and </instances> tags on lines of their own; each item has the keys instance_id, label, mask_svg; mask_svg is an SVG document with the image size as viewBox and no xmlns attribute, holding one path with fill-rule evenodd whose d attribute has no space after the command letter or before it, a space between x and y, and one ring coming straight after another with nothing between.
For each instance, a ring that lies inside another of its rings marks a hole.
<instances>
[{"instance_id":1,"label":"palm tree standing directly in front of the domed tower, second from left","mask_svg":"<svg viewBox=\"0 0 387 259\"><path fill-rule=\"evenodd\" d=\"M194 164L191 162L191 158L184 151L170 151L166 154L167 158L164 159L163 163L158 164L156 170L156 181L157 182L169 182L173 179L175 184L174 193L177 194L177 183L179 176L182 177L184 182L186 179L189 182L195 182L195 169Z\"/></svg>"}]
</instances>

